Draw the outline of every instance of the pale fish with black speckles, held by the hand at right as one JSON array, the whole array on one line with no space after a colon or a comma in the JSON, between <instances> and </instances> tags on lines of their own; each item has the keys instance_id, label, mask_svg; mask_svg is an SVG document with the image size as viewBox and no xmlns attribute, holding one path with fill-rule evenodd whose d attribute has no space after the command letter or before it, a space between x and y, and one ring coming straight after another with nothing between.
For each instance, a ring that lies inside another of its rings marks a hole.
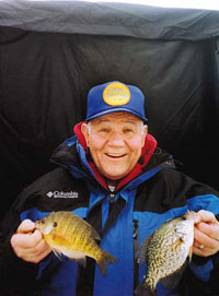
<instances>
[{"instance_id":1,"label":"pale fish with black speckles, held by the hand at right","mask_svg":"<svg viewBox=\"0 0 219 296\"><path fill-rule=\"evenodd\" d=\"M160 281L166 288L174 288L186 267L186 259L192 259L194 224L199 222L197 213L191 211L181 217L162 224L140 247L137 258L139 263L147 262L147 276L136 295L155 296Z\"/></svg>"}]
</instances>

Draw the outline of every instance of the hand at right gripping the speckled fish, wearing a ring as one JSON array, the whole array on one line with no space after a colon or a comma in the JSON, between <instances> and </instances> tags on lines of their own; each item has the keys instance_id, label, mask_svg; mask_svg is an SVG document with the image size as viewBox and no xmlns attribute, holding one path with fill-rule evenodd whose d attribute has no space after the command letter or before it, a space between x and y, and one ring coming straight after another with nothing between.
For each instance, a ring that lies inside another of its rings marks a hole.
<instances>
[{"instance_id":1,"label":"hand at right gripping the speckled fish, wearing a ring","mask_svg":"<svg viewBox=\"0 0 219 296\"><path fill-rule=\"evenodd\" d=\"M219 222L208 211L198 212L200 222L195 224L195 239L193 252L201 257L208 257L219 251Z\"/></svg>"}]
</instances>

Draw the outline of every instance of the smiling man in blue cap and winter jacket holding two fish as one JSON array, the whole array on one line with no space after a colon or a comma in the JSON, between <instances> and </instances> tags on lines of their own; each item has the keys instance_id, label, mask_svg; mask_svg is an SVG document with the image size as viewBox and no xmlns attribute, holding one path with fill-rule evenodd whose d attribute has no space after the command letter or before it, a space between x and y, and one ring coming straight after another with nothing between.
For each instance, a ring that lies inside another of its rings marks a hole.
<instances>
[{"instance_id":1,"label":"smiling man in blue cap and winter jacket holding two fish","mask_svg":"<svg viewBox=\"0 0 219 296\"><path fill-rule=\"evenodd\" d=\"M219 257L218 193L176 171L172 156L148 133L143 104L139 88L120 82L90 91L85 121L51 157L59 168L28 186L5 216L4 283L30 295L134 295L146 272L136 260L138 247L165 221L193 210L201 221L193 260L176 291L159 285L158 295L209 293ZM85 269L60 261L35 229L36 220L59 210L85 218L102 237L101 248L117 258L106 276L92 259Z\"/></svg>"}]
</instances>

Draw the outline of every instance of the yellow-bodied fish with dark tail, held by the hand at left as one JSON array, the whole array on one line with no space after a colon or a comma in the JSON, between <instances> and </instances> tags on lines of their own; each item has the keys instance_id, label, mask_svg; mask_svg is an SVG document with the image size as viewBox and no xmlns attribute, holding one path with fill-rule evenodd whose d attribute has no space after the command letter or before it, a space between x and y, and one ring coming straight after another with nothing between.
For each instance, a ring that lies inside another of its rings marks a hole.
<instances>
[{"instance_id":1,"label":"yellow-bodied fish with dark tail, held by the hand at left","mask_svg":"<svg viewBox=\"0 0 219 296\"><path fill-rule=\"evenodd\" d=\"M96 230L71 212L53 212L37 221L35 227L59 259L62 253L85 267L85 256L91 257L96 260L104 275L107 263L116 262L115 257L102 250L95 242L95 239L101 239Z\"/></svg>"}]
</instances>

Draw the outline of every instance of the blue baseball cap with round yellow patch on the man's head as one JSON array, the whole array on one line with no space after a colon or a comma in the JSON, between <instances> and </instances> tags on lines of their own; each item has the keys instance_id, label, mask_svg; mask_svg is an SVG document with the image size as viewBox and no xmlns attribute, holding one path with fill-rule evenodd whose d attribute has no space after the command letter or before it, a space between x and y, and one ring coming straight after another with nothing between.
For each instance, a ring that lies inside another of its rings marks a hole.
<instances>
[{"instance_id":1,"label":"blue baseball cap with round yellow patch on the man's head","mask_svg":"<svg viewBox=\"0 0 219 296\"><path fill-rule=\"evenodd\" d=\"M143 122L148 121L145 115L145 96L138 87L113 81L90 90L87 121L116 111L130 113Z\"/></svg>"}]
</instances>

